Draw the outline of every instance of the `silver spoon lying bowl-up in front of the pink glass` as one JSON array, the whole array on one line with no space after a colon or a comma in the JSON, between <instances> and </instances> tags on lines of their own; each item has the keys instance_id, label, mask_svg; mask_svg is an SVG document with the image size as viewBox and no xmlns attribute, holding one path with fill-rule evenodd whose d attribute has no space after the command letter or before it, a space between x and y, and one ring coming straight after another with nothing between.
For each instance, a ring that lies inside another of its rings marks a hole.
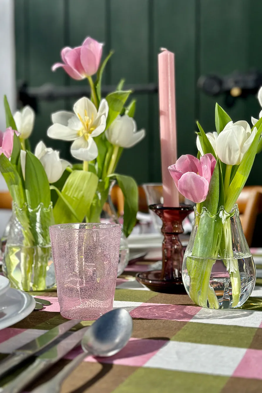
<instances>
[{"instance_id":1,"label":"silver spoon lying bowl-up in front of the pink glass","mask_svg":"<svg viewBox=\"0 0 262 393\"><path fill-rule=\"evenodd\" d=\"M62 382L80 364L87 353L93 356L113 356L131 337L133 321L124 309L115 309L102 315L86 331L81 340L83 353L67 364L54 378L36 387L31 393L59 393Z\"/></svg>"}]
</instances>

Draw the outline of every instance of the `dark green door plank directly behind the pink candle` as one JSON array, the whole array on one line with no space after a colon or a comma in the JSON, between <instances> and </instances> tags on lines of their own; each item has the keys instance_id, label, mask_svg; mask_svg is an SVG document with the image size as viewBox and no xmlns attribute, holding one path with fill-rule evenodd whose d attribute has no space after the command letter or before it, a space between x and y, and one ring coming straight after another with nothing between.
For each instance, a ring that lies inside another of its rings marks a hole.
<instances>
[{"instance_id":1,"label":"dark green door plank directly behind the pink candle","mask_svg":"<svg viewBox=\"0 0 262 393\"><path fill-rule=\"evenodd\" d=\"M175 52L176 122L178 156L195 153L195 0L155 1L154 79L157 82L157 55L161 47ZM161 181L158 100L154 99L154 173ZM170 165L173 163L170 163Z\"/></svg>"}]
</instances>

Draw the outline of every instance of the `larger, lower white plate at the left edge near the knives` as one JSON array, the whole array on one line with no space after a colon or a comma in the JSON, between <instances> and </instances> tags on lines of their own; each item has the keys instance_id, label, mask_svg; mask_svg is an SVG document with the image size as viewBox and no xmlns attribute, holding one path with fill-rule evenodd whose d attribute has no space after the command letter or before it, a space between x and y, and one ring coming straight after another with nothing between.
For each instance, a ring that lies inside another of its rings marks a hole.
<instances>
[{"instance_id":1,"label":"larger, lower white plate at the left edge near the knives","mask_svg":"<svg viewBox=\"0 0 262 393\"><path fill-rule=\"evenodd\" d=\"M9 288L0 298L0 329L21 321L34 308L33 296L18 289Z\"/></svg>"}]
</instances>

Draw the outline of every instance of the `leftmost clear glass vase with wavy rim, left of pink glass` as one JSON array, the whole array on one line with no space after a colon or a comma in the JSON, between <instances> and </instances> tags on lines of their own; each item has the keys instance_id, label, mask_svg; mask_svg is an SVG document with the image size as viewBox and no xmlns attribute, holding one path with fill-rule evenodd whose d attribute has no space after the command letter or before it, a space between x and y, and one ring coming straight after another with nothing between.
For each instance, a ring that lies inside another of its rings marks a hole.
<instances>
[{"instance_id":1,"label":"leftmost clear glass vase with wavy rim, left of pink glass","mask_svg":"<svg viewBox=\"0 0 262 393\"><path fill-rule=\"evenodd\" d=\"M13 288L42 291L55 285L49 226L54 224L52 204L35 209L28 204L13 214L4 248L3 272Z\"/></svg>"}]
</instances>

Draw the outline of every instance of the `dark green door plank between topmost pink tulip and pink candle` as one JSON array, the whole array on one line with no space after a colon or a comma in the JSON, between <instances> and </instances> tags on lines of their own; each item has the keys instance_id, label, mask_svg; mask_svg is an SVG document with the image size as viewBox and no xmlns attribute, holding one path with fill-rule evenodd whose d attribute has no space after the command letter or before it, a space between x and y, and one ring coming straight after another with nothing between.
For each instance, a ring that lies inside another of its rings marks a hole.
<instances>
[{"instance_id":1,"label":"dark green door plank between topmost pink tulip and pink candle","mask_svg":"<svg viewBox=\"0 0 262 393\"><path fill-rule=\"evenodd\" d=\"M148 2L150 0L111 0L111 82L121 78L126 84L147 83ZM117 171L134 176L138 183L149 181L148 95L132 94L137 99L135 120L138 130L146 129L146 138L131 149L125 149Z\"/></svg>"}]
</instances>

